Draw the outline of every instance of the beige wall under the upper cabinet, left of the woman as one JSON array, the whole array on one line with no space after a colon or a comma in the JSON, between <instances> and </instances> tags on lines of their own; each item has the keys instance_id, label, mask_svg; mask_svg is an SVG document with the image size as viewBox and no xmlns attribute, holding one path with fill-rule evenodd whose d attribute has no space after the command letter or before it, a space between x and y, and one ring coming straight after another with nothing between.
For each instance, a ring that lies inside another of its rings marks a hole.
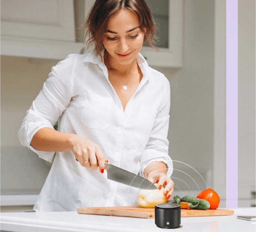
<instances>
[{"instance_id":1,"label":"beige wall under the upper cabinet, left of the woman","mask_svg":"<svg viewBox=\"0 0 256 232\"><path fill-rule=\"evenodd\" d=\"M56 62L33 64L28 58L1 56L1 194L39 192L49 173L17 134Z\"/></svg>"}]
</instances>

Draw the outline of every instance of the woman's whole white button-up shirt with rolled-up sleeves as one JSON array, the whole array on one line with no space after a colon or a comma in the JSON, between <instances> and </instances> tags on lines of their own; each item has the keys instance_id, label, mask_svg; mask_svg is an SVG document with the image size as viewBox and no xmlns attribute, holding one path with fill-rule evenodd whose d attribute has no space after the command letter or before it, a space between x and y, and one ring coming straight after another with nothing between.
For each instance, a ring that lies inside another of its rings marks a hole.
<instances>
[{"instance_id":1,"label":"woman's whole white button-up shirt with rolled-up sleeves","mask_svg":"<svg viewBox=\"0 0 256 232\"><path fill-rule=\"evenodd\" d=\"M147 165L162 161L168 166L167 176L171 176L167 140L170 84L141 54L136 59L143 78L125 111L99 55L71 54L52 68L18 133L22 145L53 161L35 211L137 205L140 189L107 179L106 171L102 174L81 166L71 151L55 154L30 145L39 129L53 128L56 122L58 131L98 144L109 164L143 176Z\"/></svg>"}]
</instances>

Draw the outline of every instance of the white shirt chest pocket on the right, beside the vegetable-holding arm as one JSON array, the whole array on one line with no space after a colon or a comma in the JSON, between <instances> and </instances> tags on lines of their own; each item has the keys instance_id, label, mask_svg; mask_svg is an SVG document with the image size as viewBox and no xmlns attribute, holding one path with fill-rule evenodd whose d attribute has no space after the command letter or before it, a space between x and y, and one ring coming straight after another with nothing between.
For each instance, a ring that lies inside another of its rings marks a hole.
<instances>
[{"instance_id":1,"label":"white shirt chest pocket on the right, beside the vegetable-holding arm","mask_svg":"<svg viewBox=\"0 0 256 232\"><path fill-rule=\"evenodd\" d=\"M148 141L154 125L156 111L149 106L140 106L138 120L136 123L135 135L137 139Z\"/></svg>"}]
</instances>

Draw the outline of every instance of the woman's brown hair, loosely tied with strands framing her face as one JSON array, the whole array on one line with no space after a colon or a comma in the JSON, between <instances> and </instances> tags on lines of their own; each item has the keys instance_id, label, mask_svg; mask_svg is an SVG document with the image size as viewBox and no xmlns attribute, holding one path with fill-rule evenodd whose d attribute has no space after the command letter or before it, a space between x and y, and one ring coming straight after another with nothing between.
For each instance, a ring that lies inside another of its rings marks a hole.
<instances>
[{"instance_id":1,"label":"woman's brown hair, loosely tied with strands framing her face","mask_svg":"<svg viewBox=\"0 0 256 232\"><path fill-rule=\"evenodd\" d=\"M96 53L103 58L100 54L100 48L103 46L108 19L121 9L128 9L138 16L140 30L144 33L144 42L158 50L152 44L158 40L156 36L157 27L145 0L96 0L85 23L82 25L82 29L86 30L85 37L89 36L86 41L87 45L94 44Z\"/></svg>"}]
</instances>

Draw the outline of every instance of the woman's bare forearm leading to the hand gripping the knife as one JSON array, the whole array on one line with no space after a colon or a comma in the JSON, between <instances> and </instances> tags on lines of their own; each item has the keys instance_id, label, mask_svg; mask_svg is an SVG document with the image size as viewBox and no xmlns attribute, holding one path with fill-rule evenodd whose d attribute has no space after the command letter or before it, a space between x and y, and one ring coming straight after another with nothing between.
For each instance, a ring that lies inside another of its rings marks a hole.
<instances>
[{"instance_id":1,"label":"woman's bare forearm leading to the hand gripping the knife","mask_svg":"<svg viewBox=\"0 0 256 232\"><path fill-rule=\"evenodd\" d=\"M72 151L72 141L75 136L77 135L45 127L34 134L30 145L39 151L68 152Z\"/></svg>"}]
</instances>

